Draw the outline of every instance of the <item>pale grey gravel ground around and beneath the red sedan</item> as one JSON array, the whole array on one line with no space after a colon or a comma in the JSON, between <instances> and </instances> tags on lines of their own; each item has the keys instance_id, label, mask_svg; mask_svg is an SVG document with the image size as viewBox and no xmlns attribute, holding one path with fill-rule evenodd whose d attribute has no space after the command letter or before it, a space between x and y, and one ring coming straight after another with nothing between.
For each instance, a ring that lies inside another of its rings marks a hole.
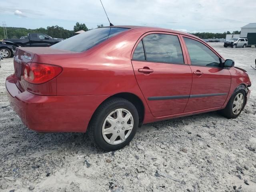
<instances>
[{"instance_id":1,"label":"pale grey gravel ground around and beneath the red sedan","mask_svg":"<svg viewBox=\"0 0 256 192\"><path fill-rule=\"evenodd\" d=\"M0 191L256 192L256 49L211 45L250 75L251 98L240 116L210 112L146 124L115 152L99 150L86 134L26 128L6 97L12 58L2 61Z\"/></svg>"}]
</instances>

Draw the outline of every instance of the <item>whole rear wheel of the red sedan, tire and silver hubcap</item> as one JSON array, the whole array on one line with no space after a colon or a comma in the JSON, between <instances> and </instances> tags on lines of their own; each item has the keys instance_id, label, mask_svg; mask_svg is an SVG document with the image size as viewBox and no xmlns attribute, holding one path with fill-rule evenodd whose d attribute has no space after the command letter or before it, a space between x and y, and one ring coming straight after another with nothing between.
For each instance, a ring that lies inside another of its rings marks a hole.
<instances>
[{"instance_id":1,"label":"whole rear wheel of the red sedan, tire and silver hubcap","mask_svg":"<svg viewBox=\"0 0 256 192\"><path fill-rule=\"evenodd\" d=\"M114 151L130 143L138 123L138 111L131 102L111 98L96 110L88 126L88 134L99 148Z\"/></svg>"}]
</instances>

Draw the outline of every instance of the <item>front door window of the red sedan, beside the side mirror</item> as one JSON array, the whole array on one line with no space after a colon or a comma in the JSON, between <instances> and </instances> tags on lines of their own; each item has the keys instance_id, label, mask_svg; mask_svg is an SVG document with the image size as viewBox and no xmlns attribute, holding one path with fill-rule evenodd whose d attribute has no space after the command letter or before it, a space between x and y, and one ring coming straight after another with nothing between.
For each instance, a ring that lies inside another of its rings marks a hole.
<instances>
[{"instance_id":1,"label":"front door window of the red sedan, beside the side mirror","mask_svg":"<svg viewBox=\"0 0 256 192\"><path fill-rule=\"evenodd\" d=\"M190 38L184 38L184 40L192 65L220 67L219 57L207 46Z\"/></svg>"}]
</instances>

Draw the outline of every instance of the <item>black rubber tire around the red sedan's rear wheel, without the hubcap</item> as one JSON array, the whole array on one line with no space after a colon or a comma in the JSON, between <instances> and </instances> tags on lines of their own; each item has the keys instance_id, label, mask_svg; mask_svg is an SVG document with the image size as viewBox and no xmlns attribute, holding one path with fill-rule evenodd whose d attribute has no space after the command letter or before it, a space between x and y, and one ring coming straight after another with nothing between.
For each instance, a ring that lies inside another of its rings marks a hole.
<instances>
[{"instance_id":1,"label":"black rubber tire around the red sedan's rear wheel, without the hubcap","mask_svg":"<svg viewBox=\"0 0 256 192\"><path fill-rule=\"evenodd\" d=\"M102 126L104 123L104 120L107 118L108 114L110 112L118 109L118 108L124 108L128 110L133 117L134 126L132 128L132 131L128 138L124 140L124 142L120 144L109 144L106 142L102 136ZM94 113L90 124L88 126L88 135L90 139L101 149L106 151L114 151L123 148L124 146L128 145L132 138L134 138L134 135L136 134L137 128L139 124L139 115L136 107L129 102L126 99L123 98L110 98L103 102Z\"/></svg>"}]
</instances>

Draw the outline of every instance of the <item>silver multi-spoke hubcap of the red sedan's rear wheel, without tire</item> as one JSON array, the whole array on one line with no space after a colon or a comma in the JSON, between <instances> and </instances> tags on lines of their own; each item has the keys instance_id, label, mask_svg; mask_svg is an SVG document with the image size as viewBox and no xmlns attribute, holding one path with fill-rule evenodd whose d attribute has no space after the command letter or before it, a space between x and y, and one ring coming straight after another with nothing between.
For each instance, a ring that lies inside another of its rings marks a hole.
<instances>
[{"instance_id":1,"label":"silver multi-spoke hubcap of the red sedan's rear wheel, without tire","mask_svg":"<svg viewBox=\"0 0 256 192\"><path fill-rule=\"evenodd\" d=\"M108 116L102 125L102 136L104 140L111 144L117 145L124 142L134 125L132 114L123 108L116 109Z\"/></svg>"}]
</instances>

